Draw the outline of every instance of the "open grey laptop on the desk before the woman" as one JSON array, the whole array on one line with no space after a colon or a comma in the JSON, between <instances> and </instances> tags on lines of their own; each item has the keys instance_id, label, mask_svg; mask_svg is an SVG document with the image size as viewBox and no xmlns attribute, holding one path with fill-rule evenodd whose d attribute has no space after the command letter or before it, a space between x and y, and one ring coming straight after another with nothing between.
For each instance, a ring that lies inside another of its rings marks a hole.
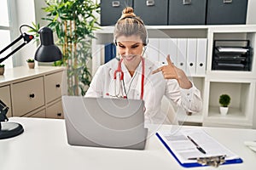
<instances>
[{"instance_id":1,"label":"open grey laptop on the desk before the woman","mask_svg":"<svg viewBox=\"0 0 256 170\"><path fill-rule=\"evenodd\" d=\"M62 96L67 143L79 146L143 150L144 102L139 99Z\"/></svg>"}]
</instances>

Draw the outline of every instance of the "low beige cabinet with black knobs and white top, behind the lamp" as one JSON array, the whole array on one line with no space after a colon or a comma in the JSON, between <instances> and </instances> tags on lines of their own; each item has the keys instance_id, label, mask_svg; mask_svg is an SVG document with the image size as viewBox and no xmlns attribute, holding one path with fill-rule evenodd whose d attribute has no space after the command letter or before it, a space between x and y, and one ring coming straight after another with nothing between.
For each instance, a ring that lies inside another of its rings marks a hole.
<instances>
[{"instance_id":1,"label":"low beige cabinet with black knobs and white top, behind the lamp","mask_svg":"<svg viewBox=\"0 0 256 170\"><path fill-rule=\"evenodd\" d=\"M0 99L9 106L9 117L63 118L63 94L67 94L65 67L21 66L0 76Z\"/></svg>"}]
</instances>

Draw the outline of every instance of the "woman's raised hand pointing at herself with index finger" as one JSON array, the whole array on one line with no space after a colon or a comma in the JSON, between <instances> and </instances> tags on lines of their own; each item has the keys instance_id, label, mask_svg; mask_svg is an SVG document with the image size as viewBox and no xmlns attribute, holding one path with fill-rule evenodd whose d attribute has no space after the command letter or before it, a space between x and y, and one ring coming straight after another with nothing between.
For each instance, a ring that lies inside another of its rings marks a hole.
<instances>
[{"instance_id":1,"label":"woman's raised hand pointing at herself with index finger","mask_svg":"<svg viewBox=\"0 0 256 170\"><path fill-rule=\"evenodd\" d=\"M168 65L159 67L158 69L152 71L152 74L162 71L165 79L176 79L181 88L191 88L192 83L189 81L189 78L185 75L183 70L172 64L169 54L167 55L166 60Z\"/></svg>"}]
</instances>

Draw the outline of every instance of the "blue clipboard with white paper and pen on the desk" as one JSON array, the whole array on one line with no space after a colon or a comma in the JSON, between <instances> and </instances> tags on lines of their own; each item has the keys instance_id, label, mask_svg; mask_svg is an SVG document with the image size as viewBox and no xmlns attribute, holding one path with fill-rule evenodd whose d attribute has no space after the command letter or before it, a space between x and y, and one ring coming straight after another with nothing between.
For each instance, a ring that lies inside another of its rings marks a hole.
<instances>
[{"instance_id":1,"label":"blue clipboard with white paper and pen on the desk","mask_svg":"<svg viewBox=\"0 0 256 170\"><path fill-rule=\"evenodd\" d=\"M180 131L181 132L179 133L182 133L182 134L184 133L183 130L180 130ZM242 159L239 156L236 156L236 154L234 154L233 152L225 148L222 144L219 144L218 141L213 139L202 129L186 129L185 133L183 134L184 137L186 137L188 133L189 135L192 135L191 133L197 133L197 135L201 135L202 139L208 139L208 141L211 140L211 143L214 144L214 146L218 146L219 147L218 149L222 151L220 154L216 154L214 153L214 151L212 151L213 153L212 154L211 150L207 150L207 154L204 155L200 153L200 151L198 150L197 156L189 157L188 161L186 160L184 161L183 156L180 156L180 154L176 150L177 148L174 148L174 144L172 145L172 142L168 141L168 139L165 136L165 134L168 134L168 135L170 134L168 138L169 137L172 138L172 135L175 135L175 134L171 132L166 132L166 131L157 132L156 136L158 137L158 139L160 139L161 143L164 144L166 149L171 153L171 155L176 159L176 161L182 167L206 167L206 166L218 167L219 165L242 163ZM189 142L189 139L186 142ZM188 146L187 147L188 150L190 150L189 147L192 147L192 146Z\"/></svg>"}]
</instances>

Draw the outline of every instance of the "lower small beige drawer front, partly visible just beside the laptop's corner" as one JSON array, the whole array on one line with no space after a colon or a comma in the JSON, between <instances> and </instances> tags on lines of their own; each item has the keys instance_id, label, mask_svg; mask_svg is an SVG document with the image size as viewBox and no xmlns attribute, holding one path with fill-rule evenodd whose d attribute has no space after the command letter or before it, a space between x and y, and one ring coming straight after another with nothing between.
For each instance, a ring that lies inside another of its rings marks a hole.
<instances>
[{"instance_id":1,"label":"lower small beige drawer front, partly visible just beside the laptop's corner","mask_svg":"<svg viewBox=\"0 0 256 170\"><path fill-rule=\"evenodd\" d=\"M46 108L46 118L64 118L61 100Z\"/></svg>"}]
</instances>

